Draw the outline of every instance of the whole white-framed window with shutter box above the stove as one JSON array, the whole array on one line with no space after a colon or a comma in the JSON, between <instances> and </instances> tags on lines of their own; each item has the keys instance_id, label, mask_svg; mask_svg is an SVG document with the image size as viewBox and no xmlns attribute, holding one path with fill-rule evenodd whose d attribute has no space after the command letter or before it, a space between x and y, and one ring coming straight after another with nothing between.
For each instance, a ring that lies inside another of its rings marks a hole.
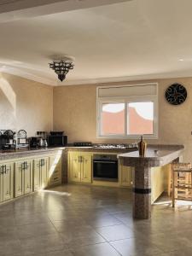
<instances>
[{"instance_id":1,"label":"whole white-framed window with shutter box above the stove","mask_svg":"<svg viewBox=\"0 0 192 256\"><path fill-rule=\"evenodd\" d=\"M158 135L157 84L99 87L97 137L137 138L140 135L148 138Z\"/></svg>"}]
</instances>

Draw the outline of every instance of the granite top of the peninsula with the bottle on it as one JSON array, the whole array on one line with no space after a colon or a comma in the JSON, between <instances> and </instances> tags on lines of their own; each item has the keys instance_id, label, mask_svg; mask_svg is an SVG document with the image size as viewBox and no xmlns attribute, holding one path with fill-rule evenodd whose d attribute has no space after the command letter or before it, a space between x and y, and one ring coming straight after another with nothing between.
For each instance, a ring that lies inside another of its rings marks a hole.
<instances>
[{"instance_id":1,"label":"granite top of the peninsula with the bottle on it","mask_svg":"<svg viewBox=\"0 0 192 256\"><path fill-rule=\"evenodd\" d=\"M138 150L119 154L118 158L125 166L164 166L177 159L183 153L183 145L154 145L149 144L144 157L139 156Z\"/></svg>"}]
</instances>

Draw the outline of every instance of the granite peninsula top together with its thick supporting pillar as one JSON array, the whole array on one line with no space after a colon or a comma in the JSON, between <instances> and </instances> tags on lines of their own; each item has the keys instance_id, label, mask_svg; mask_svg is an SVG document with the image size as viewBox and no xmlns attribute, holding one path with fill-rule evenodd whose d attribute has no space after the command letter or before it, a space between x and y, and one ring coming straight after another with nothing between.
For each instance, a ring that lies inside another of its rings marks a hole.
<instances>
[{"instance_id":1,"label":"granite peninsula top together with its thick supporting pillar","mask_svg":"<svg viewBox=\"0 0 192 256\"><path fill-rule=\"evenodd\" d=\"M183 149L182 145L148 145L144 157L140 157L138 151L119 154L122 165L134 167L132 189L134 218L145 219L151 216L151 172L155 172L154 167L179 161Z\"/></svg>"}]
</instances>

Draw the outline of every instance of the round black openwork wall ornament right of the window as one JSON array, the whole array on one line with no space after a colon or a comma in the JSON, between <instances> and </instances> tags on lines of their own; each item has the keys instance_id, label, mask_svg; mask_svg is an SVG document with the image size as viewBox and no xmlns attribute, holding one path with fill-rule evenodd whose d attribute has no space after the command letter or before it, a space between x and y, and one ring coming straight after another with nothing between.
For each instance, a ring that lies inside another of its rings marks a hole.
<instances>
[{"instance_id":1,"label":"round black openwork wall ornament right of the window","mask_svg":"<svg viewBox=\"0 0 192 256\"><path fill-rule=\"evenodd\" d=\"M187 90L182 84L172 84L166 89L166 101L172 105L182 104L187 98Z\"/></svg>"}]
</instances>

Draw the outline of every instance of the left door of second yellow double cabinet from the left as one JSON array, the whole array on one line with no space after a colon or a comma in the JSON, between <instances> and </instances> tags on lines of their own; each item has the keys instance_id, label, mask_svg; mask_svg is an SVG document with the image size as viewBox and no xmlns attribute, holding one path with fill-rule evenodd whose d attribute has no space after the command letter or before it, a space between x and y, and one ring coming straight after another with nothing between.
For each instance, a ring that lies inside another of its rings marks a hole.
<instances>
[{"instance_id":1,"label":"left door of second yellow double cabinet from the left","mask_svg":"<svg viewBox=\"0 0 192 256\"><path fill-rule=\"evenodd\" d=\"M24 161L15 162L15 197L24 194Z\"/></svg>"}]
</instances>

